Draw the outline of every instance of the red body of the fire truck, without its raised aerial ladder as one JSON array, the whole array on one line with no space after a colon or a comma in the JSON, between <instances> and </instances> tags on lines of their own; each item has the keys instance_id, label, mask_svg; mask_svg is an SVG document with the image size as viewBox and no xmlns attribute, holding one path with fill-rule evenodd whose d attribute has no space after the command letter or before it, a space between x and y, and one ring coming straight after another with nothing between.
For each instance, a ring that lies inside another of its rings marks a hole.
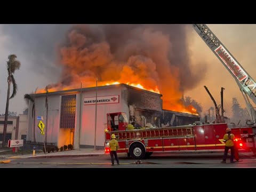
<instances>
[{"instance_id":1,"label":"red body of the fire truck, without its raised aerial ladder","mask_svg":"<svg viewBox=\"0 0 256 192\"><path fill-rule=\"evenodd\" d=\"M111 134L116 135L119 144L117 153L127 153L134 159L149 157L155 151L214 151L224 149L225 146L222 139L226 134L227 123L127 130L127 122L125 113L107 114L106 153L109 153ZM253 133L252 127L231 130L235 135L236 149L246 147L246 140L243 139L245 135ZM238 161L238 153L236 153L235 159Z\"/></svg>"}]
</instances>

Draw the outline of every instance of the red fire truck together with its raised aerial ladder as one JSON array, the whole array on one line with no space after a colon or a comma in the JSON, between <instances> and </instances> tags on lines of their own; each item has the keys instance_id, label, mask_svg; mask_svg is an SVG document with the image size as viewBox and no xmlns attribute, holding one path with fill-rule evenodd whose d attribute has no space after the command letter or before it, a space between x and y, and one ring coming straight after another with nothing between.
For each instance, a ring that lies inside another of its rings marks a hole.
<instances>
[{"instance_id":1,"label":"red fire truck together with its raised aerial ladder","mask_svg":"<svg viewBox=\"0 0 256 192\"><path fill-rule=\"evenodd\" d=\"M252 150L256 154L256 111L249 98L256 104L256 83L226 47L205 24L193 24L193 28L203 41L210 47L221 63L234 77L241 90L252 121L248 127L231 128L235 135L235 159L238 161L238 149ZM114 122L116 120L116 123ZM219 150L224 149L223 136L226 134L227 123L145 128L127 130L125 113L107 114L105 131L105 151L109 153L110 135L115 134L119 143L118 153L127 153L134 159L149 157L157 151L188 151L188 150Z\"/></svg>"}]
</instances>

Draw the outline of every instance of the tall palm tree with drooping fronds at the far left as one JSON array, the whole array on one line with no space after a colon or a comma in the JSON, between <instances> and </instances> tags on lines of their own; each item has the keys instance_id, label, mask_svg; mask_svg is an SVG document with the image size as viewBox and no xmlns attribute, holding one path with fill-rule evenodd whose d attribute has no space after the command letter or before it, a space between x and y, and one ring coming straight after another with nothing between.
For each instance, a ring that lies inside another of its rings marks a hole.
<instances>
[{"instance_id":1,"label":"tall palm tree with drooping fronds at the far left","mask_svg":"<svg viewBox=\"0 0 256 192\"><path fill-rule=\"evenodd\" d=\"M14 96L16 95L17 90L18 90L18 86L17 86L17 84L15 82L15 79L13 77L13 74L14 74L15 70L20 69L20 61L16 60L16 58L17 58L17 56L15 54L10 54L8 56L8 61L7 61L8 90L7 90L7 101L6 101L5 117L4 117L4 130L3 130L2 147L5 146L6 131L7 131L7 119L8 119L8 110L9 110L9 100L14 98ZM13 91L12 91L12 95L10 97L11 83L12 83L12 86L13 86Z\"/></svg>"}]
</instances>

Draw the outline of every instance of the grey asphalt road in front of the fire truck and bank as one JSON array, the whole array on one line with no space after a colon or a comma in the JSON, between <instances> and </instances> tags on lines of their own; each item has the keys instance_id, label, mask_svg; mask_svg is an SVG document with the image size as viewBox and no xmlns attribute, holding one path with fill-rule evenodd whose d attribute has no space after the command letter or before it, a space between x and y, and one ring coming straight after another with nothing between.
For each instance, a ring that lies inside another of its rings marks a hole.
<instances>
[{"instance_id":1,"label":"grey asphalt road in front of the fire truck and bank","mask_svg":"<svg viewBox=\"0 0 256 192\"><path fill-rule=\"evenodd\" d=\"M111 166L109 155L86 157L22 158L11 159L10 163L0 164L0 168L256 168L256 156L253 153L240 153L238 162L221 164L222 153L173 154L154 153L141 164L126 154L118 154L120 165ZM116 162L115 162L116 163Z\"/></svg>"}]
</instances>

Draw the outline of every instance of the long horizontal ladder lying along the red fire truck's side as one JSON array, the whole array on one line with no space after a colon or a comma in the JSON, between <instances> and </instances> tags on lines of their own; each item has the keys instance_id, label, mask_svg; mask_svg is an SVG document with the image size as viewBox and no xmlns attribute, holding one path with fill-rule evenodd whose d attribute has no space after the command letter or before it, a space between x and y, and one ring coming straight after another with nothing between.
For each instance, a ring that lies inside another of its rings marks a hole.
<instances>
[{"instance_id":1,"label":"long horizontal ladder lying along the red fire truck's side","mask_svg":"<svg viewBox=\"0 0 256 192\"><path fill-rule=\"evenodd\" d=\"M194 138L193 126L175 126L155 129L139 129L125 131L111 131L115 134L118 141L122 140L143 140L156 138Z\"/></svg>"}]
</instances>

